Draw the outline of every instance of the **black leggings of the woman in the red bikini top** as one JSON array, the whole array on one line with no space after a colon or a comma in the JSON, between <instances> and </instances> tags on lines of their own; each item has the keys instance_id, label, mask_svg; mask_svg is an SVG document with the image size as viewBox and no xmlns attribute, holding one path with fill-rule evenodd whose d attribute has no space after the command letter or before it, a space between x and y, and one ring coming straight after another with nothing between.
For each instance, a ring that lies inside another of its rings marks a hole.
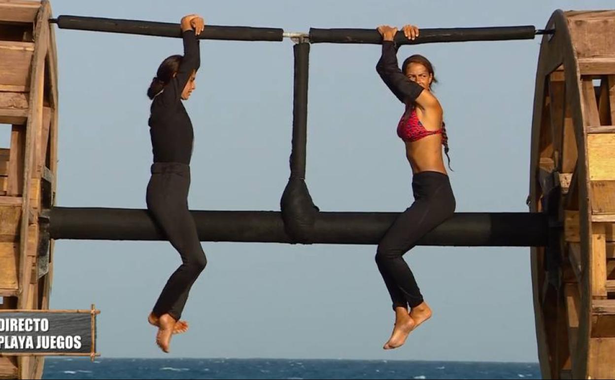
<instances>
[{"instance_id":1,"label":"black leggings of the woman in the red bikini top","mask_svg":"<svg viewBox=\"0 0 615 380\"><path fill-rule=\"evenodd\" d=\"M376 264L391 294L393 309L412 308L423 302L415 277L402 256L455 210L455 198L446 174L419 172L412 177L412 191L414 203L395 219L376 251Z\"/></svg>"}]
</instances>

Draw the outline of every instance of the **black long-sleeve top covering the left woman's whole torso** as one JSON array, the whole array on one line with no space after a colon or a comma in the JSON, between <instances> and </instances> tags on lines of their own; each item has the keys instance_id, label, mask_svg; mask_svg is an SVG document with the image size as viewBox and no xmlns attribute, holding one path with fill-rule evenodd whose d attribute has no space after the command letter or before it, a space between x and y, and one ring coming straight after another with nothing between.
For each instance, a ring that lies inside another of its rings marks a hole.
<instances>
[{"instance_id":1,"label":"black long-sleeve top covering the left woman's whole torso","mask_svg":"<svg viewBox=\"0 0 615 380\"><path fill-rule=\"evenodd\" d=\"M199 40L194 30L183 32L184 57L177 75L154 97L149 116L154 162L190 164L194 131L186 108L181 102L192 70L200 65Z\"/></svg>"}]
</instances>

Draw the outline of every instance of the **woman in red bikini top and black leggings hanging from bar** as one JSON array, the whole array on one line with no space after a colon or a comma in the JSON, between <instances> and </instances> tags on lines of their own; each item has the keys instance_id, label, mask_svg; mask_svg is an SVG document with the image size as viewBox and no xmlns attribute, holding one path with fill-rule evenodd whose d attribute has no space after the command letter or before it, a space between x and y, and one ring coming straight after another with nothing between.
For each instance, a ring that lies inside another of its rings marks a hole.
<instances>
[{"instance_id":1,"label":"woman in red bikini top and black leggings hanging from bar","mask_svg":"<svg viewBox=\"0 0 615 380\"><path fill-rule=\"evenodd\" d=\"M434 68L429 60L416 54L408 57L400 70L394 42L397 28L382 25L378 31L383 41L376 71L405 105L397 135L405 144L415 198L384 234L376 251L376 264L395 311L393 333L383 348L394 349L402 346L408 334L432 315L402 256L422 236L453 215L455 199L442 157L444 145L448 158L443 110L431 91L432 83L436 82ZM403 33L406 38L415 39L419 30L406 25Z\"/></svg>"}]
</instances>

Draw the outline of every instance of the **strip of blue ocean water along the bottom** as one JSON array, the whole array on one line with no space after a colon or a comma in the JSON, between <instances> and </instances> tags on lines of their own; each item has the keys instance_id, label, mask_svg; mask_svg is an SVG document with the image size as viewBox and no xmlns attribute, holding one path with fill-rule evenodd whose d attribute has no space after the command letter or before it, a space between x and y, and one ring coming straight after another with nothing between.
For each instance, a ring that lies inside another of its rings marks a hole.
<instances>
[{"instance_id":1,"label":"strip of blue ocean water along the bottom","mask_svg":"<svg viewBox=\"0 0 615 380\"><path fill-rule=\"evenodd\" d=\"M46 358L43 379L540 379L538 363Z\"/></svg>"}]
</instances>

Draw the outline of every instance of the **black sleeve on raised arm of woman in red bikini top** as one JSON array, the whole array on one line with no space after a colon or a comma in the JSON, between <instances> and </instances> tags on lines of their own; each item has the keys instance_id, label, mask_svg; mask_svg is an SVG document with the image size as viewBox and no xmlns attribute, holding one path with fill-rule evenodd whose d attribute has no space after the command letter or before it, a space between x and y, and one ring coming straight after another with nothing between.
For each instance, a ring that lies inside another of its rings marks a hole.
<instances>
[{"instance_id":1,"label":"black sleeve on raised arm of woman in red bikini top","mask_svg":"<svg viewBox=\"0 0 615 380\"><path fill-rule=\"evenodd\" d=\"M376 71L383 79L383 82L395 94L400 102L411 104L421 95L423 87L408 79L402 73L397 63L397 44L394 41L383 41L383 50Z\"/></svg>"}]
</instances>

